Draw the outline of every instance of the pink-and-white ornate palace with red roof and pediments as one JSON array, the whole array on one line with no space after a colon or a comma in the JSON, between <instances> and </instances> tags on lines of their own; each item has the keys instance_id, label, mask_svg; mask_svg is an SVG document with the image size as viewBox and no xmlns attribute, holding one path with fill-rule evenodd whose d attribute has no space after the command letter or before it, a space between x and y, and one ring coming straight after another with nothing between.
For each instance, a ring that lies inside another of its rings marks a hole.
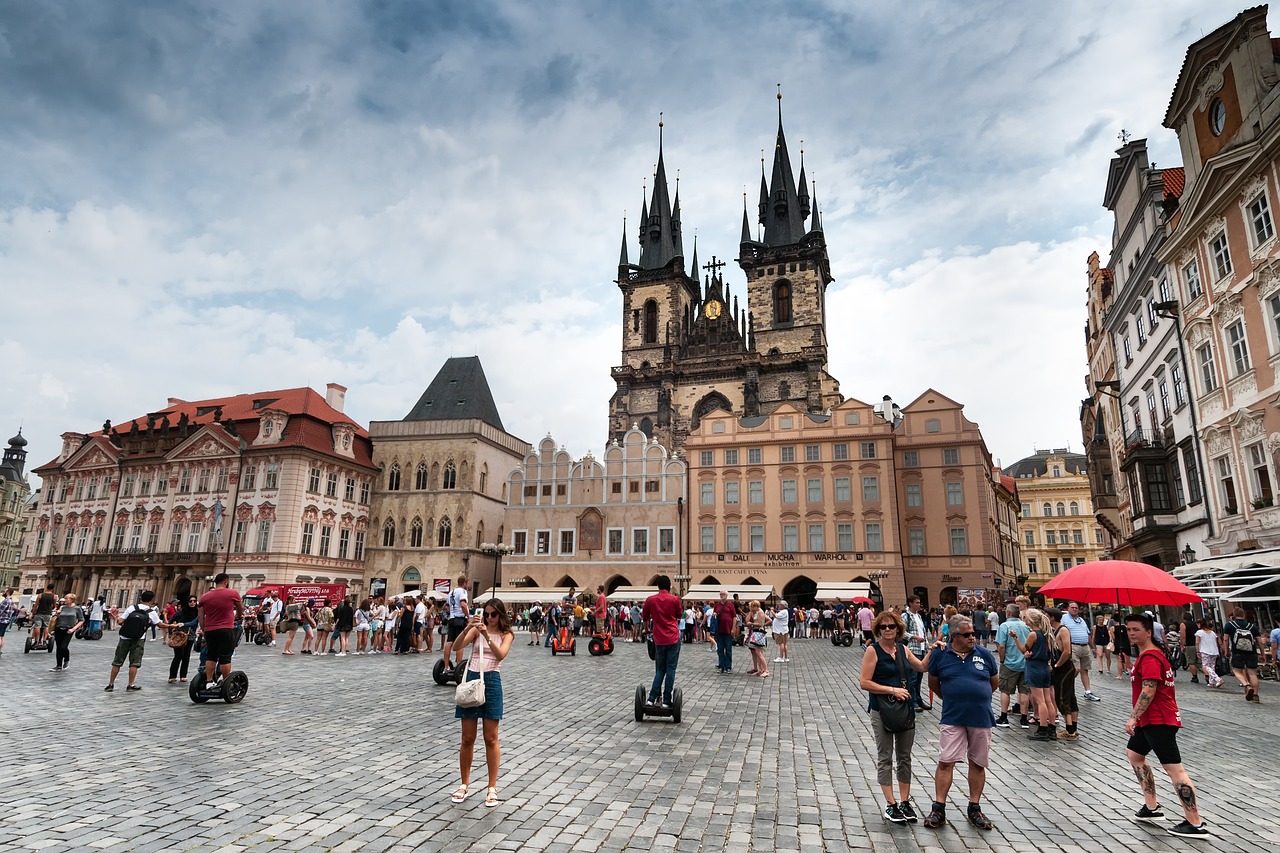
<instances>
[{"instance_id":1,"label":"pink-and-white ornate palace with red roof and pediments","mask_svg":"<svg viewBox=\"0 0 1280 853\"><path fill-rule=\"evenodd\" d=\"M22 571L109 605L184 596L218 571L234 585L364 583L375 469L346 388L169 405L64 433L35 469L41 502Z\"/></svg>"}]
</instances>

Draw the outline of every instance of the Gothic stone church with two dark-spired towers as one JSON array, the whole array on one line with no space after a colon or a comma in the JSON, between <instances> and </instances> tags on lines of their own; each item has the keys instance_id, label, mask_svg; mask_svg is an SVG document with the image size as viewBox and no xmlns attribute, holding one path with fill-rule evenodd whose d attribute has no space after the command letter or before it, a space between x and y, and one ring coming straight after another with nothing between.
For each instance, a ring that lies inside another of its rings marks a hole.
<instances>
[{"instance_id":1,"label":"Gothic stone church with two dark-spired towers","mask_svg":"<svg viewBox=\"0 0 1280 853\"><path fill-rule=\"evenodd\" d=\"M635 424L675 448L713 411L750 418L790 402L822 412L841 401L827 373L827 241L803 163L799 181L794 175L778 97L768 179L762 164L758 233L742 211L737 265L745 293L731 292L718 259L699 269L694 247L686 261L680 192L672 201L659 142L635 264L622 234L622 364L613 368L612 441L621 442Z\"/></svg>"}]
</instances>

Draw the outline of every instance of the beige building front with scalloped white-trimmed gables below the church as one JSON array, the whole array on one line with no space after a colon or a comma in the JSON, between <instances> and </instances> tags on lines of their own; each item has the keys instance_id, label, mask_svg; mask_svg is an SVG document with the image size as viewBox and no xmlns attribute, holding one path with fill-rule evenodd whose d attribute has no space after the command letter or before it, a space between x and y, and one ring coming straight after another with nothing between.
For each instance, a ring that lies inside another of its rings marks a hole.
<instances>
[{"instance_id":1,"label":"beige building front with scalloped white-trimmed gables below the church","mask_svg":"<svg viewBox=\"0 0 1280 853\"><path fill-rule=\"evenodd\" d=\"M511 473L503 574L513 587L609 592L680 574L685 460L639 428L596 459L548 435Z\"/></svg>"}]
</instances>

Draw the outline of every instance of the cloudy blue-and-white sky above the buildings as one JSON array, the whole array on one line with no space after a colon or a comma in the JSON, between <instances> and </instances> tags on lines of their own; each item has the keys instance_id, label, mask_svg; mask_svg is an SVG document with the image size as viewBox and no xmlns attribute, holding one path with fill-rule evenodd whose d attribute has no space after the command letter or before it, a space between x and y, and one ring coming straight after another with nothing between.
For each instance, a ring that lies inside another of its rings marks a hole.
<instances>
[{"instance_id":1,"label":"cloudy blue-and-white sky above the buildings","mask_svg":"<svg viewBox=\"0 0 1280 853\"><path fill-rule=\"evenodd\" d=\"M479 355L509 432L599 452L659 111L685 232L731 259L781 83L844 393L933 387L1006 465L1079 450L1116 134L1178 165L1187 46L1240 8L4 3L0 433L35 466L169 396L328 382L367 424Z\"/></svg>"}]
</instances>

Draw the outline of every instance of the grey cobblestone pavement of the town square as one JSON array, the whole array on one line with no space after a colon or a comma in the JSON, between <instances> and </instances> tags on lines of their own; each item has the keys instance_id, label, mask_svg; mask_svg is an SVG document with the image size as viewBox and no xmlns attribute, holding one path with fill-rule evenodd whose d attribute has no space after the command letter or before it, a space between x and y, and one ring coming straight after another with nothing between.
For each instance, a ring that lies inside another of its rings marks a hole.
<instances>
[{"instance_id":1,"label":"grey cobblestone pavement of the town square","mask_svg":"<svg viewBox=\"0 0 1280 853\"><path fill-rule=\"evenodd\" d=\"M114 634L76 642L72 669L22 654L10 633L0 657L0 781L6 850L1248 850L1280 830L1267 792L1280 786L1275 720L1280 684L1261 706L1239 686L1179 683L1180 745L1217 835L1183 840L1137 825L1137 783L1124 760L1128 683L1094 675L1075 743L995 733L987 815L964 822L957 768L941 830L881 817L873 739L852 686L859 649L792 643L773 678L719 675L707 647L685 646L685 720L636 724L644 647L593 658L552 657L521 637L503 666L503 802L480 790L448 800L458 777L452 688L430 679L434 657L282 657L242 647L252 681L237 706L195 706L166 684L169 649L148 644L143 689L104 693ZM772 651L772 649L771 649ZM773 656L771 654L771 658ZM81 756L73 758L73 753ZM927 811L937 712L923 713L913 800ZM1157 770L1161 800L1179 812ZM1180 820L1180 813L1176 820ZM1167 825L1171 825L1170 821Z\"/></svg>"}]
</instances>

